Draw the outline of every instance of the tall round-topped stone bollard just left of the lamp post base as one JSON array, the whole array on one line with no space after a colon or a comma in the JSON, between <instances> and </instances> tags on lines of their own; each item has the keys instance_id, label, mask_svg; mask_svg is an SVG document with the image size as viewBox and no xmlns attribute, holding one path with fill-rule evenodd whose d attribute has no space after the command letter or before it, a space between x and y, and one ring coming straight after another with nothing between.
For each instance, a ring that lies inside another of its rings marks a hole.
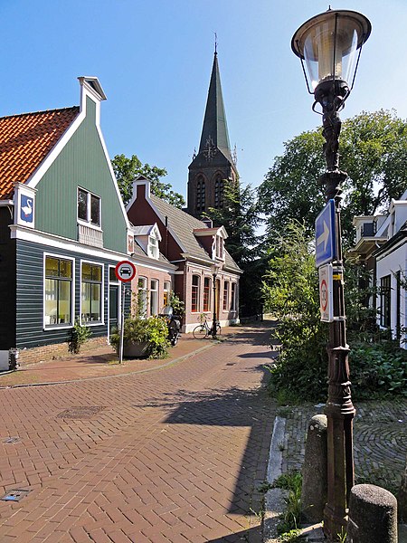
<instances>
[{"instance_id":1,"label":"tall round-topped stone bollard just left of the lamp post base","mask_svg":"<svg viewBox=\"0 0 407 543\"><path fill-rule=\"evenodd\" d=\"M301 503L306 522L321 522L327 503L327 415L316 414L308 424Z\"/></svg>"}]
</instances>

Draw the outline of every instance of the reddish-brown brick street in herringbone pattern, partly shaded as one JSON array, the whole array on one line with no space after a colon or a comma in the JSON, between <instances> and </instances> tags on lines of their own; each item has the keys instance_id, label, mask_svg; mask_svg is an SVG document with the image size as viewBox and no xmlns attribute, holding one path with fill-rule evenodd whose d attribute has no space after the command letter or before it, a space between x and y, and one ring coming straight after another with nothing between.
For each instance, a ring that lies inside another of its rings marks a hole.
<instances>
[{"instance_id":1,"label":"reddish-brown brick street in herringbone pattern, partly shaded","mask_svg":"<svg viewBox=\"0 0 407 543\"><path fill-rule=\"evenodd\" d=\"M264 328L147 373L0 390L2 543L260 543Z\"/></svg>"}]
</instances>

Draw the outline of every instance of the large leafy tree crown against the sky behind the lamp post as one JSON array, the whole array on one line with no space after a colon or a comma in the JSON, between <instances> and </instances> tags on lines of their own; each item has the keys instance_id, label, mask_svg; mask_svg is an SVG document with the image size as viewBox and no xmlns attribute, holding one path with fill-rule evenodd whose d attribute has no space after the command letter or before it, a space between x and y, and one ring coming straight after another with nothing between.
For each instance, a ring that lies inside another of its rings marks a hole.
<instances>
[{"instance_id":1,"label":"large leafy tree crown against the sky behind the lamp post","mask_svg":"<svg viewBox=\"0 0 407 543\"><path fill-rule=\"evenodd\" d=\"M260 210L270 232L296 218L314 231L325 204L318 178L325 171L322 129L303 132L284 144L259 188ZM340 168L348 177L343 185L342 225L345 244L354 240L355 215L375 214L407 188L407 121L395 112L363 112L342 124Z\"/></svg>"}]
</instances>

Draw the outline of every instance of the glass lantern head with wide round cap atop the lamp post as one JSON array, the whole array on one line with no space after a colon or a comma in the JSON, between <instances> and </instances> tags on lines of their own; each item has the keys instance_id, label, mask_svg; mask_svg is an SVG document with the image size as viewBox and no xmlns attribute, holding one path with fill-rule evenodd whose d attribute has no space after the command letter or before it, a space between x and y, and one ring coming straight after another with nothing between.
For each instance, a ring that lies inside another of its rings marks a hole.
<instances>
[{"instance_id":1,"label":"glass lantern head with wide round cap atop the lamp post","mask_svg":"<svg viewBox=\"0 0 407 543\"><path fill-rule=\"evenodd\" d=\"M371 30L363 14L345 10L329 9L302 24L292 38L291 48L306 62L308 89L315 90L319 83L330 80L345 81L350 87L355 78L357 50Z\"/></svg>"}]
</instances>

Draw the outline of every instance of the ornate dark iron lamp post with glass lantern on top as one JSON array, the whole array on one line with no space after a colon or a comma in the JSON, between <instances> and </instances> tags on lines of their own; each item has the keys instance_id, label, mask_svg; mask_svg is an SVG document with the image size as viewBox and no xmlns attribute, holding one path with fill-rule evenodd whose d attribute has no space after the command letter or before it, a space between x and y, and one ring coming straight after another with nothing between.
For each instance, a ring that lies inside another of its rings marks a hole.
<instances>
[{"instance_id":1,"label":"ornate dark iron lamp post with glass lantern on top","mask_svg":"<svg viewBox=\"0 0 407 543\"><path fill-rule=\"evenodd\" d=\"M312 109L322 115L327 162L321 181L327 186L327 203L335 202L335 251L333 266L333 319L329 324L327 397L327 505L324 533L336 540L346 526L349 494L355 484L353 419L349 380L349 347L346 343L344 270L340 230L341 183L347 174L339 169L339 111L345 106L355 82L362 45L372 26L363 14L331 10L318 14L298 28L291 41L300 58L308 92L314 94ZM307 66L307 71L304 66ZM308 81L309 78L309 81ZM321 112L316 110L320 106Z\"/></svg>"}]
</instances>

